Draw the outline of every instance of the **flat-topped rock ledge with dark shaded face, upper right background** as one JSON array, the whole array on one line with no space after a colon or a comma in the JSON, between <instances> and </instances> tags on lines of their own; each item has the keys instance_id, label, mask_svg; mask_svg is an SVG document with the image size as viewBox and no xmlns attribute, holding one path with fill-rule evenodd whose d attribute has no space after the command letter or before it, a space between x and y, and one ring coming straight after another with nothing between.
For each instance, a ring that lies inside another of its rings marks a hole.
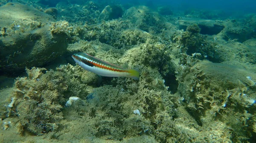
<instances>
[{"instance_id":1,"label":"flat-topped rock ledge with dark shaded face, upper right background","mask_svg":"<svg viewBox=\"0 0 256 143\"><path fill-rule=\"evenodd\" d=\"M191 19L186 18L185 20L178 20L179 28L186 30L189 25L197 24L201 28L200 34L217 35L224 28L224 24L221 21L214 20L203 20L203 19Z\"/></svg>"}]
</instances>

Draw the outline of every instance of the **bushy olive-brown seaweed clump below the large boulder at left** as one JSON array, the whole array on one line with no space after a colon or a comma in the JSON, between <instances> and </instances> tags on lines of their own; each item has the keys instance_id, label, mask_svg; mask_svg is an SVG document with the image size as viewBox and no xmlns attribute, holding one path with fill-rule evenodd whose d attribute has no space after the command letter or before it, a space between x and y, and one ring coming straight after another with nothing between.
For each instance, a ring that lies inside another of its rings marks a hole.
<instances>
[{"instance_id":1,"label":"bushy olive-brown seaweed clump below the large boulder at left","mask_svg":"<svg viewBox=\"0 0 256 143\"><path fill-rule=\"evenodd\" d=\"M13 115L20 119L20 134L31 132L43 135L58 128L63 118L63 93L67 83L53 71L43 74L45 68L26 69L28 76L15 80L13 96L17 98Z\"/></svg>"}]
</instances>

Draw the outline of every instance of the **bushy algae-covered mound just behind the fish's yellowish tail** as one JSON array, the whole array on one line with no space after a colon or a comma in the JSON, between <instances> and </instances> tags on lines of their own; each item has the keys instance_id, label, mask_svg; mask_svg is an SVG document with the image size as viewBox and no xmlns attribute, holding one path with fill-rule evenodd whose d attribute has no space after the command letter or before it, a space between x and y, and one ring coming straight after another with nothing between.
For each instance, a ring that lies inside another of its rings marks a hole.
<instances>
[{"instance_id":1,"label":"bushy algae-covered mound just behind the fish's yellowish tail","mask_svg":"<svg viewBox=\"0 0 256 143\"><path fill-rule=\"evenodd\" d=\"M163 82L167 87L173 87L171 90L174 91L175 87L177 87L177 82L172 81L175 79L175 68L177 66L177 62L174 61L175 52L171 52L171 48L168 45L163 44L161 42L156 42L152 39L147 39L145 43L140 44L138 47L135 46L126 51L122 59L122 62L129 62L130 65L144 65L146 67L151 68L143 68L141 75L147 79L147 82L156 82L156 84L152 84L153 86L157 85L157 82ZM149 73L158 72L163 76L165 81L161 81L161 79L157 77L155 74L153 77L148 76ZM160 84L162 85L162 84ZM161 87L162 88L162 87Z\"/></svg>"}]
</instances>

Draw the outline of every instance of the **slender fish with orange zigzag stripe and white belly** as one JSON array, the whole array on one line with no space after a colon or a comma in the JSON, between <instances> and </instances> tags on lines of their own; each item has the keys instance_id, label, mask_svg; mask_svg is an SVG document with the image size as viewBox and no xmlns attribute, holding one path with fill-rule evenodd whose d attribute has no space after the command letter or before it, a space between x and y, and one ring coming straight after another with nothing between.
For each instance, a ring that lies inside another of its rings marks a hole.
<instances>
[{"instance_id":1,"label":"slender fish with orange zigzag stripe and white belly","mask_svg":"<svg viewBox=\"0 0 256 143\"><path fill-rule=\"evenodd\" d=\"M137 69L128 69L117 65L105 62L87 53L74 53L72 55L74 61L79 64L84 70L96 73L100 76L108 77L129 77L139 79L140 72Z\"/></svg>"}]
</instances>

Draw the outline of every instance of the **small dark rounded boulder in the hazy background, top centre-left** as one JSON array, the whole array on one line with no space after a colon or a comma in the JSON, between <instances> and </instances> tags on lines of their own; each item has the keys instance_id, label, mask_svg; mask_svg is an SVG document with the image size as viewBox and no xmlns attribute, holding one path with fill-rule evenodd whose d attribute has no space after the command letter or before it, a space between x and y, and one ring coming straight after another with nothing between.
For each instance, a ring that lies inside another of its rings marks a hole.
<instances>
[{"instance_id":1,"label":"small dark rounded boulder in the hazy background, top centre-left","mask_svg":"<svg viewBox=\"0 0 256 143\"><path fill-rule=\"evenodd\" d=\"M122 17L122 14L123 10L120 5L108 5L99 14L99 21L117 19Z\"/></svg>"}]
</instances>

